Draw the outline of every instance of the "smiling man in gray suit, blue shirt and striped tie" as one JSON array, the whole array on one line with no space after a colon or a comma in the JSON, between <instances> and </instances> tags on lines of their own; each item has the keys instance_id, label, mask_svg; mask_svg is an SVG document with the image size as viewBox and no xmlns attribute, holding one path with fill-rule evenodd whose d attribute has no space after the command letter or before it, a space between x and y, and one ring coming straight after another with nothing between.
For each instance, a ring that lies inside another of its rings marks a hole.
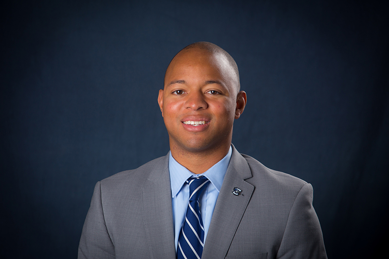
<instances>
[{"instance_id":1,"label":"smiling man in gray suit, blue shirt and striped tie","mask_svg":"<svg viewBox=\"0 0 389 259\"><path fill-rule=\"evenodd\" d=\"M96 184L78 258L327 258L312 186L231 145L246 102L227 52L178 52L158 96L170 152Z\"/></svg>"}]
</instances>

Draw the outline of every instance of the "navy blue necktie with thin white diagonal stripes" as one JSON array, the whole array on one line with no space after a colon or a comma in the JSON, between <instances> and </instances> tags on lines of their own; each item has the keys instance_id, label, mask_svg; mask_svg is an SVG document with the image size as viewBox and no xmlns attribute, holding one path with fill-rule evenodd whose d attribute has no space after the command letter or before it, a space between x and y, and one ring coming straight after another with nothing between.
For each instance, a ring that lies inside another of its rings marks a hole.
<instances>
[{"instance_id":1,"label":"navy blue necktie with thin white diagonal stripes","mask_svg":"<svg viewBox=\"0 0 389 259\"><path fill-rule=\"evenodd\" d=\"M189 178L189 204L178 237L177 259L200 259L204 247L204 225L198 198L210 180L204 176Z\"/></svg>"}]
</instances>

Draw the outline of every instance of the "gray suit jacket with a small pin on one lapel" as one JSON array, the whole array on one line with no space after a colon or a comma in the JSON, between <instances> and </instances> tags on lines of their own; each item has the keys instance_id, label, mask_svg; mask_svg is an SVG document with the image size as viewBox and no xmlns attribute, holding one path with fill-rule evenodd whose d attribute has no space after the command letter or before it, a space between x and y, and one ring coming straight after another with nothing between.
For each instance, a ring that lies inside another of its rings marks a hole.
<instances>
[{"instance_id":1,"label":"gray suit jacket with a small pin on one lapel","mask_svg":"<svg viewBox=\"0 0 389 259\"><path fill-rule=\"evenodd\" d=\"M96 184L79 259L176 258L168 161L159 157ZM327 258L312 199L310 184L232 146L202 259Z\"/></svg>"}]
</instances>

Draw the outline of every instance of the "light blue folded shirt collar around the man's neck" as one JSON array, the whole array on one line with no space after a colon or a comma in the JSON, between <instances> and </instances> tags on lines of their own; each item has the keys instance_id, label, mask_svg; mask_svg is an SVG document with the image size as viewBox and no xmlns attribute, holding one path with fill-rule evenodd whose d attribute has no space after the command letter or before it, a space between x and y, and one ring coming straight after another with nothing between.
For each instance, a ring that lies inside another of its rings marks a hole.
<instances>
[{"instance_id":1,"label":"light blue folded shirt collar around the man's neck","mask_svg":"<svg viewBox=\"0 0 389 259\"><path fill-rule=\"evenodd\" d=\"M224 175L227 172L228 165L230 164L230 158L232 155L232 148L230 147L229 152L222 160L214 164L210 169L201 174L195 174L186 169L180 163L174 159L172 152L169 152L169 172L170 172L170 187L172 188L172 197L176 196L185 181L195 175L204 175L207 177L217 191L220 191Z\"/></svg>"}]
</instances>

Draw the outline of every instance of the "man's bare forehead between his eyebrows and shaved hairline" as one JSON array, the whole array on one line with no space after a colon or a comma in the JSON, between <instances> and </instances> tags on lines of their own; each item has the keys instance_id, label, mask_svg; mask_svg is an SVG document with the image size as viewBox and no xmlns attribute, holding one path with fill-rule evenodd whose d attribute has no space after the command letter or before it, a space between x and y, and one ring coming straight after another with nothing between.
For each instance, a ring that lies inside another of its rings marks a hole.
<instances>
[{"instance_id":1,"label":"man's bare forehead between his eyebrows and shaved hairline","mask_svg":"<svg viewBox=\"0 0 389 259\"><path fill-rule=\"evenodd\" d=\"M204 80L218 79L224 81L226 86L234 88L238 85L236 73L228 58L222 53L202 49L179 52L166 70L164 85L172 80L181 80L180 77L183 76L201 76Z\"/></svg>"}]
</instances>

